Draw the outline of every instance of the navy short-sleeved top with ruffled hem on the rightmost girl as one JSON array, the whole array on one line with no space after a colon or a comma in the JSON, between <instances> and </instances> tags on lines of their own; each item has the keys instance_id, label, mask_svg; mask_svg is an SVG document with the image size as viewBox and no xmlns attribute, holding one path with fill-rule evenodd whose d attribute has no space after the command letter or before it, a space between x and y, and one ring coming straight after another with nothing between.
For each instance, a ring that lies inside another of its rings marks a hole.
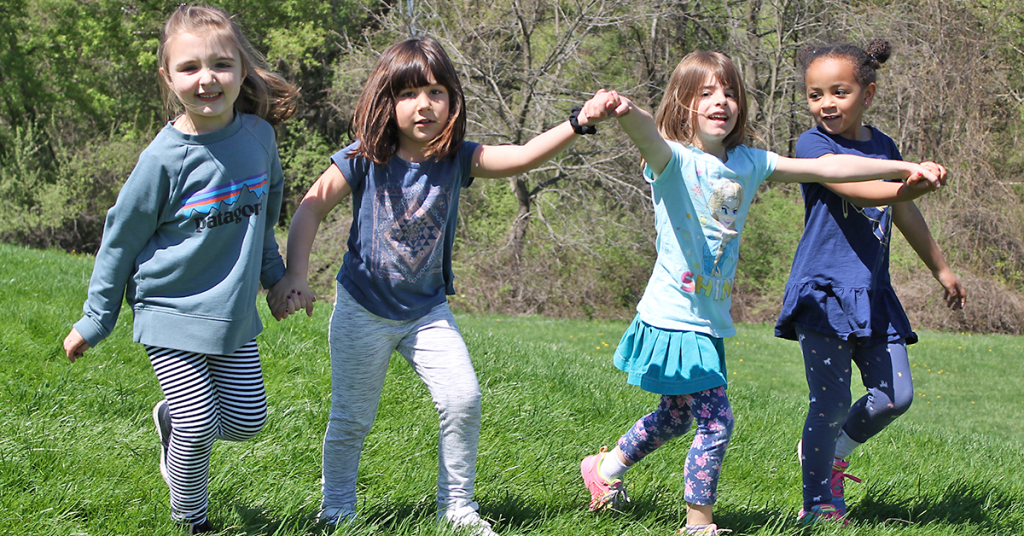
<instances>
[{"instance_id":1,"label":"navy short-sleeved top with ruffled hem on the rightmost girl","mask_svg":"<svg viewBox=\"0 0 1024 536\"><path fill-rule=\"evenodd\" d=\"M797 158L855 155L902 160L892 138L869 128L868 141L812 128L797 141ZM793 259L775 336L796 339L795 328L800 326L842 339L916 342L889 279L892 207L858 207L819 183L805 183L802 189L804 235Z\"/></svg>"}]
</instances>

